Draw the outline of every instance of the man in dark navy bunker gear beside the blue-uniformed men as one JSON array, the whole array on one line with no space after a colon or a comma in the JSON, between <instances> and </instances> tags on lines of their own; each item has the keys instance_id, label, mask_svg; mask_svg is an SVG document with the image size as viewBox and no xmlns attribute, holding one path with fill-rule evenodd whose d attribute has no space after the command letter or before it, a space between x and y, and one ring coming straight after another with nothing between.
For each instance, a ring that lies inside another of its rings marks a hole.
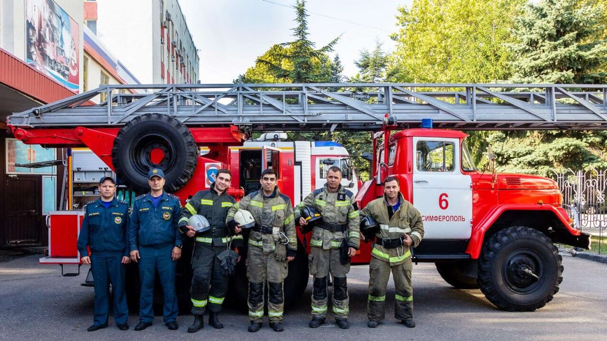
<instances>
[{"instance_id":1,"label":"man in dark navy bunker gear beside the blue-uniformed men","mask_svg":"<svg viewBox=\"0 0 607 341\"><path fill-rule=\"evenodd\" d=\"M194 255L192 256L192 314L194 323L188 328L195 333L203 328L203 314L209 310L209 325L223 328L219 321L219 312L228 291L228 275L222 271L221 260L217 258L228 247L242 246L242 235L234 229L228 229L226 215L236 201L226 193L231 184L232 174L227 169L220 169L210 189L198 191L192 197L179 218L180 232L188 237L195 237ZM195 232L188 225L188 219L199 214L209 221L210 228L204 232ZM238 231L240 232L240 231Z\"/></svg>"}]
</instances>

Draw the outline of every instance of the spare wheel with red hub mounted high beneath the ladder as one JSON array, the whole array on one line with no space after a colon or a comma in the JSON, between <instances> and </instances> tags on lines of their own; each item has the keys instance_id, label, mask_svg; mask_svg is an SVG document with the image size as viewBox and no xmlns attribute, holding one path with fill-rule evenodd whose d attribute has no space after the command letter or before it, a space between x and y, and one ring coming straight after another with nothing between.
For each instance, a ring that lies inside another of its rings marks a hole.
<instances>
[{"instance_id":1,"label":"spare wheel with red hub mounted high beneath the ladder","mask_svg":"<svg viewBox=\"0 0 607 341\"><path fill-rule=\"evenodd\" d=\"M137 192L148 192L148 172L164 172L164 189L175 192L194 174L198 147L188 127L176 118L146 113L127 122L112 148L112 163L118 177Z\"/></svg>"}]
</instances>

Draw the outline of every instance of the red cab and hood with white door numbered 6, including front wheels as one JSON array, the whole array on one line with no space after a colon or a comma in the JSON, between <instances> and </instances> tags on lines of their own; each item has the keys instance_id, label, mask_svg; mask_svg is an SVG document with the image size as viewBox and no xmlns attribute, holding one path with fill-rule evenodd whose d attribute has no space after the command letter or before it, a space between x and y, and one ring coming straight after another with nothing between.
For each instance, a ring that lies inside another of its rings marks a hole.
<instances>
[{"instance_id":1,"label":"red cab and hood with white door numbered 6, including front wheels","mask_svg":"<svg viewBox=\"0 0 607 341\"><path fill-rule=\"evenodd\" d=\"M356 203L364 208L383 195L386 177L398 178L424 222L413 262L435 263L448 283L481 288L502 309L540 308L562 280L554 243L589 249L589 235L573 226L554 180L477 170L466 137L456 130L385 127L373 138L375 177L362 185ZM361 255L371 247L362 245Z\"/></svg>"}]
</instances>

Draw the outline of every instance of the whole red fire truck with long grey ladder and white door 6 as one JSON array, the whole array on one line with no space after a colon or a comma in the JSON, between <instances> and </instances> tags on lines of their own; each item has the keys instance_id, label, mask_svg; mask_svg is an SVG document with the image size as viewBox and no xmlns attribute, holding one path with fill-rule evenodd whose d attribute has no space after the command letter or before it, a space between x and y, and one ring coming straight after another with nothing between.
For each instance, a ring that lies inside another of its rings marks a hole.
<instances>
[{"instance_id":1,"label":"whole red fire truck with long grey ladder and white door 6","mask_svg":"<svg viewBox=\"0 0 607 341\"><path fill-rule=\"evenodd\" d=\"M213 169L230 167L236 175L229 193L240 198L248 184L256 181L252 171L272 167L279 174L279 186L288 189L285 193L294 203L307 194L303 186L299 193L295 190L295 169L301 166L298 156L279 144L263 142L249 158L245 155L248 133L270 129L375 131L370 139L372 178L358 190L358 207L381 197L385 177L398 177L405 199L415 204L424 220L424 240L413 250L414 262L435 263L447 283L456 288L480 288L501 309L541 308L563 279L554 243L590 247L589 235L575 228L571 211L562 205L557 184L533 175L477 170L466 146L466 133L432 129L432 123L418 128L421 118L432 118L438 127L463 129L602 129L607 123L592 116L595 104L563 90L565 86L543 85L544 92L537 93L493 92L486 84L425 85L447 90L416 92L409 88L412 84L188 84L157 86L152 94L120 94L121 86L106 86L10 116L8 127L27 144L88 147L137 192L146 191L151 166L164 170L166 189L182 201L208 187ZM366 93L375 96L374 103L356 100L350 90L335 90L363 86L379 89ZM464 90L453 91L455 86ZM99 92L108 94L109 104L80 105ZM601 95L605 86L589 92L605 99ZM456 99L454 103L437 99L450 96ZM544 101L534 100L538 96ZM233 100L220 104L223 97ZM552 102L547 100L550 98ZM579 105L558 103L559 98L573 99ZM550 112L554 116L547 119ZM202 156L200 146L208 151ZM294 147L296 151L297 143ZM333 165L337 159L345 159L344 154L337 155L319 155L320 161L311 163ZM247 160L256 160L259 167L249 167ZM75 241L80 220L76 215L68 224L63 215L69 212L57 214L56 220L53 215L50 218L49 255L41 263L71 263L77 269L80 255ZM285 297L291 303L307 286L307 240L299 234L299 254L289 265ZM188 248L191 245L186 245L185 255ZM368 263L370 248L370 244L361 245L353 264ZM132 295L136 295L138 283L134 266L129 271L132 279L127 281L133 284ZM242 267L240 264L231 281L231 296L240 302L246 295ZM178 272L178 292L187 302L188 257L182 258Z\"/></svg>"}]
</instances>

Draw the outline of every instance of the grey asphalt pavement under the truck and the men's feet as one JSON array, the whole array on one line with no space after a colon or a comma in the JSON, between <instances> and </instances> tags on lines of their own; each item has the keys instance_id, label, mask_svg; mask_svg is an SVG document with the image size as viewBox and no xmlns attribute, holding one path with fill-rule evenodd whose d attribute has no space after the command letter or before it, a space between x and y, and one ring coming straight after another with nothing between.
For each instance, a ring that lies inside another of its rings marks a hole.
<instances>
[{"instance_id":1,"label":"grey asphalt pavement under the truck and the men's feet","mask_svg":"<svg viewBox=\"0 0 607 341\"><path fill-rule=\"evenodd\" d=\"M300 305L285 313L285 331L268 327L246 331L248 318L226 308L223 329L206 325L188 334L189 314L178 317L180 327L169 331L157 316L154 325L134 331L137 312L130 312L128 331L109 328L88 333L92 324L93 289L81 286L87 267L77 277L62 277L57 265L38 265L36 255L0 263L0 340L607 340L607 265L563 257L565 272L560 292L535 312L496 309L480 290L453 289L433 264L413 266L416 328L393 319L394 284L387 292L387 313L378 328L367 328L368 266L353 266L348 275L350 329L339 329L333 319L308 328L311 281ZM205 316L206 318L206 316ZM206 321L205 321L206 322Z\"/></svg>"}]
</instances>

